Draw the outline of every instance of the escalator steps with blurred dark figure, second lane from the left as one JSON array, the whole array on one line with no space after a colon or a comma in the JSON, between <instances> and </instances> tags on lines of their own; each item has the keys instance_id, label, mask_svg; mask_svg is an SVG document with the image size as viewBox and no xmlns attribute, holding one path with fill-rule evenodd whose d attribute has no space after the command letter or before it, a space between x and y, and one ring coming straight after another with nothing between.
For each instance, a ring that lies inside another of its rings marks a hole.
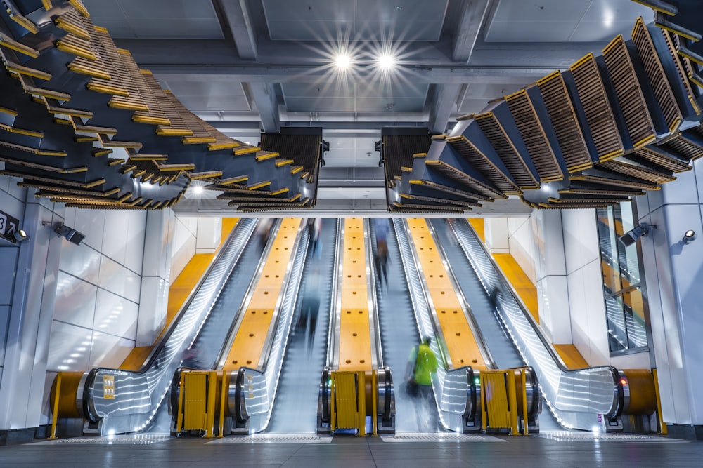
<instances>
[{"instance_id":1,"label":"escalator steps with blurred dark figure, second lane from the left","mask_svg":"<svg viewBox=\"0 0 703 468\"><path fill-rule=\"evenodd\" d=\"M309 248L293 328L286 346L283 370L271 422L271 434L314 433L320 370L325 365L328 323L332 309L335 239L338 220L322 220L318 246ZM319 297L316 317L304 314L305 298Z\"/></svg>"}]
</instances>

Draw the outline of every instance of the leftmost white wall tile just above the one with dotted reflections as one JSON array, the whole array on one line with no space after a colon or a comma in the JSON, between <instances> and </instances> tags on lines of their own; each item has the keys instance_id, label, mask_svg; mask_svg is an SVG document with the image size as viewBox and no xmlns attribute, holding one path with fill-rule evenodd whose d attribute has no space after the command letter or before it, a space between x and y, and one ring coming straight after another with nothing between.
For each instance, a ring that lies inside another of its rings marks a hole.
<instances>
[{"instance_id":1,"label":"leftmost white wall tile just above the one with dotted reflections","mask_svg":"<svg viewBox=\"0 0 703 468\"><path fill-rule=\"evenodd\" d=\"M53 319L93 328L97 286L70 274L58 272Z\"/></svg>"}]
</instances>

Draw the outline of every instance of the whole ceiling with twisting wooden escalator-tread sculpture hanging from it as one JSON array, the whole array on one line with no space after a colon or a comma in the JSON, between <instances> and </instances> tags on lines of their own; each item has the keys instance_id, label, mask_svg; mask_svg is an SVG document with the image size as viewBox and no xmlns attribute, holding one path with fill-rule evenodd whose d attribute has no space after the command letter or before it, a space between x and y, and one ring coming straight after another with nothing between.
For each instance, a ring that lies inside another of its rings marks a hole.
<instances>
[{"instance_id":1,"label":"whole ceiling with twisting wooden escalator-tread sculpture hanging from it","mask_svg":"<svg viewBox=\"0 0 703 468\"><path fill-rule=\"evenodd\" d=\"M591 208L703 154L694 1L3 3L2 173L67 206Z\"/></svg>"}]
</instances>

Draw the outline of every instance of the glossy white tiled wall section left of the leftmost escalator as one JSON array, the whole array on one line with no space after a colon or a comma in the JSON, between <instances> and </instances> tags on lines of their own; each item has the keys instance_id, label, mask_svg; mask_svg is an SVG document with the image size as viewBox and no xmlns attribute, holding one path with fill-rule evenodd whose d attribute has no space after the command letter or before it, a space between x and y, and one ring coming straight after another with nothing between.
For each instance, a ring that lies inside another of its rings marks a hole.
<instances>
[{"instance_id":1,"label":"glossy white tiled wall section left of the leftmost escalator","mask_svg":"<svg viewBox=\"0 0 703 468\"><path fill-rule=\"evenodd\" d=\"M68 208L62 240L49 370L119 366L136 345L146 212Z\"/></svg>"}]
</instances>

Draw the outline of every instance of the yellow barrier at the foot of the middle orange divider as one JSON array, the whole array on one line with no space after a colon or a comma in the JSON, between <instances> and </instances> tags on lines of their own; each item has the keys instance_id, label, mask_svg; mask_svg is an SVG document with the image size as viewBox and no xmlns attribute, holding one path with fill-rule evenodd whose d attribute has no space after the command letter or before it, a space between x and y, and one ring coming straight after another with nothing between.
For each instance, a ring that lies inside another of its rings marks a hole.
<instances>
[{"instance_id":1,"label":"yellow barrier at the foot of the middle orange divider","mask_svg":"<svg viewBox=\"0 0 703 468\"><path fill-rule=\"evenodd\" d=\"M367 375L368 374L368 375ZM359 436L366 436L366 381L370 383L370 410L373 435L378 435L376 413L378 410L378 395L376 394L376 381L378 376L375 370L366 373L337 371L330 373L330 430L356 429Z\"/></svg>"}]
</instances>

